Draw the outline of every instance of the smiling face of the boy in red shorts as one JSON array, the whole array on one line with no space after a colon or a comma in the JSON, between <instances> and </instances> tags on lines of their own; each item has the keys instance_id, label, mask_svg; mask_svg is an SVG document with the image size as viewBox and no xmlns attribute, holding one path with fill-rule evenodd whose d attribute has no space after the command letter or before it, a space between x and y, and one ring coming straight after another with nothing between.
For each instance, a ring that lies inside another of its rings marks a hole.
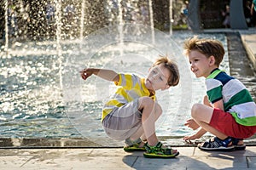
<instances>
[{"instance_id":1,"label":"smiling face of the boy in red shorts","mask_svg":"<svg viewBox=\"0 0 256 170\"><path fill-rule=\"evenodd\" d=\"M208 77L211 71L216 67L213 56L207 58L197 50L192 50L189 53L190 70L194 72L195 77Z\"/></svg>"}]
</instances>

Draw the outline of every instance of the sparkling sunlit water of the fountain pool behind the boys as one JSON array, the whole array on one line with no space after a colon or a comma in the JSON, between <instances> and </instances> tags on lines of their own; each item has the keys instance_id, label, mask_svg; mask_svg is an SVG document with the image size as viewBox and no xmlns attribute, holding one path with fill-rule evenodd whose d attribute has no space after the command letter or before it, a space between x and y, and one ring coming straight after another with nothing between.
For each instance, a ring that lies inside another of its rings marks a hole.
<instances>
[{"instance_id":1,"label":"sparkling sunlit water of the fountain pool behind the boys","mask_svg":"<svg viewBox=\"0 0 256 170\"><path fill-rule=\"evenodd\" d=\"M159 54L168 54L179 65L181 82L157 93L163 115L156 124L157 135L181 137L191 133L183 126L189 109L205 95L203 79L195 79L183 55L183 41L190 31L172 35L150 26L125 24L108 26L84 39L55 42L16 43L9 54L1 54L1 138L88 139L94 144L119 145L101 126L104 101L115 89L98 77L79 77L84 67L108 68L145 76ZM197 34L224 43L224 34ZM60 58L61 54L61 58ZM227 53L222 69L229 72Z\"/></svg>"}]
</instances>

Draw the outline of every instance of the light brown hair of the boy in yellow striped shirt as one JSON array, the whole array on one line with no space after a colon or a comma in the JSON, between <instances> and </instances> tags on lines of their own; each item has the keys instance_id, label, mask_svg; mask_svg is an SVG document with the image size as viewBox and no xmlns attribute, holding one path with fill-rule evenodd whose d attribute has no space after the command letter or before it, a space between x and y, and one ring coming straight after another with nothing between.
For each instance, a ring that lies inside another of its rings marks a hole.
<instances>
[{"instance_id":1,"label":"light brown hair of the boy in yellow striped shirt","mask_svg":"<svg viewBox=\"0 0 256 170\"><path fill-rule=\"evenodd\" d=\"M169 59L167 56L160 55L159 59L156 59L153 66L155 65L164 65L166 69L168 69L171 73L171 76L168 78L169 86L176 86L179 82L179 71L177 68L177 64Z\"/></svg>"}]
</instances>

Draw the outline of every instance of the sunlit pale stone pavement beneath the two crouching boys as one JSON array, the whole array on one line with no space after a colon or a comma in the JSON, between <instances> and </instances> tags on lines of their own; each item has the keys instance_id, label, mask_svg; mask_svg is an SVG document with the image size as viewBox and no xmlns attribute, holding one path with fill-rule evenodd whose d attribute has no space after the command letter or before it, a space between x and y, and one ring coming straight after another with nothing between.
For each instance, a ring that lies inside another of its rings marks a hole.
<instances>
[{"instance_id":1,"label":"sunlit pale stone pavement beneath the two crouching boys","mask_svg":"<svg viewBox=\"0 0 256 170\"><path fill-rule=\"evenodd\" d=\"M150 159L143 152L116 149L0 150L1 169L255 169L256 146L231 152L177 147L173 159Z\"/></svg>"}]
</instances>

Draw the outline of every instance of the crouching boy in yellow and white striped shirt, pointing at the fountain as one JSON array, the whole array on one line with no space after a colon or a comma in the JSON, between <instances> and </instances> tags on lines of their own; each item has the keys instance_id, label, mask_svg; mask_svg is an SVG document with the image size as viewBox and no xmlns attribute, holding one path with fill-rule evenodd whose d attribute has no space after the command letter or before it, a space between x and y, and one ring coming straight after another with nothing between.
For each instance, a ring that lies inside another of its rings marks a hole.
<instances>
[{"instance_id":1,"label":"crouching boy in yellow and white striped shirt, pointing at the fountain","mask_svg":"<svg viewBox=\"0 0 256 170\"><path fill-rule=\"evenodd\" d=\"M146 150L145 157L172 158L179 154L160 143L154 128L162 113L155 91L176 86L179 82L177 65L171 59L157 59L146 78L96 68L84 69L80 74L84 80L94 74L119 87L104 105L102 126L109 137L125 140L125 151Z\"/></svg>"}]
</instances>

